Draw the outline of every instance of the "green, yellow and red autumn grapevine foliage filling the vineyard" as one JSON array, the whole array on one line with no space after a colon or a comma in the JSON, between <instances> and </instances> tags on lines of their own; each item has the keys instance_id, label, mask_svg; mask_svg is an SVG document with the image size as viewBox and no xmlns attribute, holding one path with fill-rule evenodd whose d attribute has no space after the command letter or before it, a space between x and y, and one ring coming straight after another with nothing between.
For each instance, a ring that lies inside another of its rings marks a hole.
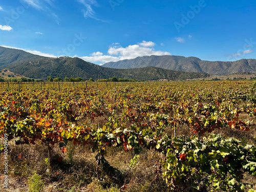
<instances>
[{"instance_id":1,"label":"green, yellow and red autumn grapevine foliage filling the vineyard","mask_svg":"<svg viewBox=\"0 0 256 192\"><path fill-rule=\"evenodd\" d=\"M255 129L253 122L240 118L241 114L256 115L255 83L115 84L111 89L81 84L60 90L47 86L25 84L20 92L2 87L0 138L7 134L17 145L40 141L48 147L50 164L51 150L58 144L63 153L67 142L91 145L97 152L98 180L110 167L104 158L106 147L121 146L136 154L146 147L166 157L161 161L163 176L173 190L206 190L212 185L215 190L245 191L251 187L241 182L240 175L256 175L255 145L242 146L236 139L215 133ZM96 123L99 118L103 123ZM182 126L188 127L190 137L166 134Z\"/></svg>"}]
</instances>

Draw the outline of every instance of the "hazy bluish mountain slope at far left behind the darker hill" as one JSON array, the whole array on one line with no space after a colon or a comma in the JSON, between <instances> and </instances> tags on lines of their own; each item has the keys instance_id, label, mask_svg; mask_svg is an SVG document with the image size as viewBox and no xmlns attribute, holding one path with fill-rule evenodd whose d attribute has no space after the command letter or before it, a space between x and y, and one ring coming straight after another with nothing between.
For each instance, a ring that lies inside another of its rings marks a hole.
<instances>
[{"instance_id":1,"label":"hazy bluish mountain slope at far left behind the darker hill","mask_svg":"<svg viewBox=\"0 0 256 192\"><path fill-rule=\"evenodd\" d=\"M0 46L0 69L7 68L14 63L20 63L30 60L42 59L39 55L34 55L18 49L10 49Z\"/></svg>"}]
</instances>

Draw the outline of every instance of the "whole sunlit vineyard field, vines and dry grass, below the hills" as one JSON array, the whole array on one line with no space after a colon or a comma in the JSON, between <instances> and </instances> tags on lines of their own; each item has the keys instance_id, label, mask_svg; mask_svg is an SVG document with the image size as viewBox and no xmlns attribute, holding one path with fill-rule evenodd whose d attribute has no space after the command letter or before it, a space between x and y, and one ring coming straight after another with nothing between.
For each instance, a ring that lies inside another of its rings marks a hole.
<instances>
[{"instance_id":1,"label":"whole sunlit vineyard field, vines and dry grass, below the hills","mask_svg":"<svg viewBox=\"0 0 256 192\"><path fill-rule=\"evenodd\" d=\"M256 83L0 84L4 191L256 191Z\"/></svg>"}]
</instances>

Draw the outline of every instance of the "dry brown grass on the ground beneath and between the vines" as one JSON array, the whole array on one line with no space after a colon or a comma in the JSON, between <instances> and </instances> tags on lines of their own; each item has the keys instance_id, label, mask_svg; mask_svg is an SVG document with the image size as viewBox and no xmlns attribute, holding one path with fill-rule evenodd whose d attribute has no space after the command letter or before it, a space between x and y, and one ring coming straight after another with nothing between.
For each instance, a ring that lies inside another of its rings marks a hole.
<instances>
[{"instance_id":1,"label":"dry brown grass on the ground beneath and between the vines","mask_svg":"<svg viewBox=\"0 0 256 192\"><path fill-rule=\"evenodd\" d=\"M256 122L255 117L241 114L243 121ZM95 124L104 124L105 118L95 119ZM166 129L166 134L174 136L174 131ZM242 145L256 144L256 126L250 126L249 132L240 132L229 128L221 129L216 134L223 134L227 138L237 138ZM177 129L177 135L190 136L187 125ZM28 191L28 179L36 172L44 182L44 191L169 191L160 173L155 170L159 168L159 161L164 159L164 154L141 148L141 152L135 166L131 167L131 159L134 152L124 152L122 147L107 147L105 159L113 166L110 173L104 174L104 180L98 182L96 174L96 153L92 152L91 146L73 145L68 143L68 152L64 155L56 145L52 150L52 173L46 173L47 165L45 158L48 157L47 147L37 142L35 145L15 145L14 141L9 142L9 189L3 188L3 173L0 174L0 188L2 191ZM3 153L0 153L0 161L4 160ZM18 156L22 155L22 159ZM58 158L63 157L62 162ZM3 170L3 163L0 168ZM255 178L244 174L244 180L256 186ZM127 187L121 190L121 187ZM256 188L255 188L256 189Z\"/></svg>"}]
</instances>

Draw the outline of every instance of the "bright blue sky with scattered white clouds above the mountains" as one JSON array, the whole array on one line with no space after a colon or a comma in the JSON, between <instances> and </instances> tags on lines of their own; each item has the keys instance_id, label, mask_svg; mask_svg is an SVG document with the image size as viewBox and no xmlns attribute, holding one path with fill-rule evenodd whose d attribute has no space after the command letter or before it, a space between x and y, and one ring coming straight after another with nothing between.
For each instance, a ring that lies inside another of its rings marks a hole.
<instances>
[{"instance_id":1,"label":"bright blue sky with scattered white clouds above the mountains","mask_svg":"<svg viewBox=\"0 0 256 192\"><path fill-rule=\"evenodd\" d=\"M0 46L98 65L144 55L256 59L255 31L255 0L0 0Z\"/></svg>"}]
</instances>

